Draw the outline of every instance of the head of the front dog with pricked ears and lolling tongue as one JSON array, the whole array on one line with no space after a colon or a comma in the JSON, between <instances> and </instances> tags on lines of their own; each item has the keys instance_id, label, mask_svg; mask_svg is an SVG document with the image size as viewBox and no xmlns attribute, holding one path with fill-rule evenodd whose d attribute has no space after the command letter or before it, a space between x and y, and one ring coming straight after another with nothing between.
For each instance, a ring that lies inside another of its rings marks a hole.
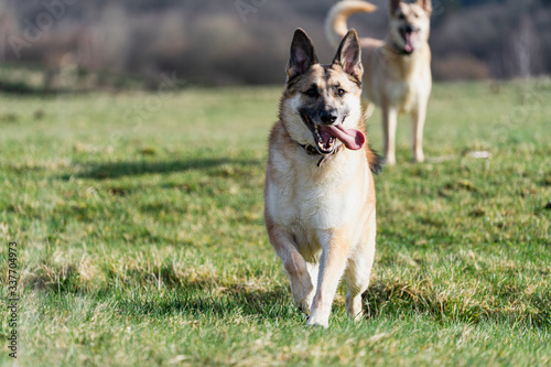
<instances>
[{"instance_id":1,"label":"head of the front dog with pricked ears and lolling tongue","mask_svg":"<svg viewBox=\"0 0 551 367\"><path fill-rule=\"evenodd\" d=\"M280 109L291 139L315 147L321 154L331 154L341 144L360 149L366 140L356 129L361 120L363 74L356 31L345 35L331 65L321 65L312 41L296 30Z\"/></svg>"}]
</instances>

